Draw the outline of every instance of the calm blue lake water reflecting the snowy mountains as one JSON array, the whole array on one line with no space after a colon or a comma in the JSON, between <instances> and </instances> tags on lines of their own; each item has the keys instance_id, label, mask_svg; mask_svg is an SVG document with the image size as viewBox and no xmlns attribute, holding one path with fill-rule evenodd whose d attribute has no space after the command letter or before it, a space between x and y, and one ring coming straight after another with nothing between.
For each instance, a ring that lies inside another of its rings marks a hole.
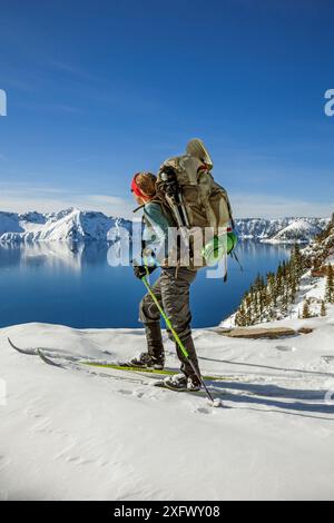
<instances>
[{"instance_id":1,"label":"calm blue lake water reflecting the snowy mountains","mask_svg":"<svg viewBox=\"0 0 334 523\"><path fill-rule=\"evenodd\" d=\"M139 327L144 285L130 267L110 267L107 251L99 243L0 246L0 327L28 322ZM244 272L230 260L226 284L208 279L205 269L198 273L191 288L194 327L215 326L233 313L257 273L275 270L289 248L244 241L237 255Z\"/></svg>"}]
</instances>

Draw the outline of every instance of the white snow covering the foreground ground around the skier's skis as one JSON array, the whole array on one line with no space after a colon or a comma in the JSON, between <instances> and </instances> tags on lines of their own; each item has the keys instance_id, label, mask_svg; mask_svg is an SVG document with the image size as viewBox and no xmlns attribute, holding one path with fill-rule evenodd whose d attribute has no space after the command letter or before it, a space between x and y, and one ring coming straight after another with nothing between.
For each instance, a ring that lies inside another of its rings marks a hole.
<instances>
[{"instance_id":1,"label":"white snow covering the foreground ground around the skier's skis","mask_svg":"<svg viewBox=\"0 0 334 523\"><path fill-rule=\"evenodd\" d=\"M276 323L273 325L282 325ZM49 356L124 361L141 329L77 330L45 324L0 330L0 496L8 500L307 500L334 495L334 307L284 320L313 334L232 339L195 330L204 374L226 408L204 395L153 387L148 375L61 369ZM167 364L177 367L166 342ZM148 383L148 384L147 384Z\"/></svg>"}]
</instances>

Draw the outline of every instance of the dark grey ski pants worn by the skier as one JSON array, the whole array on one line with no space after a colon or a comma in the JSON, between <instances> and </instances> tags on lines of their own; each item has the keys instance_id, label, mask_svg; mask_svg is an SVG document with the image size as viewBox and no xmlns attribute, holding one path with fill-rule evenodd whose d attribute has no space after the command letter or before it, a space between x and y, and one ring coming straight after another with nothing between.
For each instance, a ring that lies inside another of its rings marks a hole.
<instances>
[{"instance_id":1,"label":"dark grey ski pants worn by the skier","mask_svg":"<svg viewBox=\"0 0 334 523\"><path fill-rule=\"evenodd\" d=\"M160 277L153 286L153 290L159 305L170 319L173 328L185 345L196 372L199 373L197 355L191 338L191 313L189 306L189 289L196 278L196 270L185 267L179 267L177 272L174 267L163 268ZM140 303L139 318L145 325L148 353L154 357L161 358L164 356L164 345L160 329L160 313L149 294ZM169 330L168 336L171 341L175 341ZM195 372L191 365L177 344L176 351L181 362L181 372L186 376L194 376Z\"/></svg>"}]
</instances>

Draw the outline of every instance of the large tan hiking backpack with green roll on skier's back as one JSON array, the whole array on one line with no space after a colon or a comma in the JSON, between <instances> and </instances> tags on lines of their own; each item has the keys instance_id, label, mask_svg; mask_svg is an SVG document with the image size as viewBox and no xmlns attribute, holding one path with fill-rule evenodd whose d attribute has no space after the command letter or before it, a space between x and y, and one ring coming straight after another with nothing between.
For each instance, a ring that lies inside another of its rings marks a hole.
<instances>
[{"instance_id":1,"label":"large tan hiking backpack with green roll on skier's back","mask_svg":"<svg viewBox=\"0 0 334 523\"><path fill-rule=\"evenodd\" d=\"M169 208L183 235L185 228L202 228L205 231L206 245L200 250L200 267L215 265L224 258L226 282L226 256L232 255L238 262L234 251L237 235L234 233L235 223L228 194L215 181L213 167L203 141L197 138L190 140L185 155L169 158L161 165L156 184L157 198L163 207L165 205ZM208 230L209 240L206 237ZM185 241L187 245L187 238ZM191 237L188 246L196 266L196 248Z\"/></svg>"}]
</instances>

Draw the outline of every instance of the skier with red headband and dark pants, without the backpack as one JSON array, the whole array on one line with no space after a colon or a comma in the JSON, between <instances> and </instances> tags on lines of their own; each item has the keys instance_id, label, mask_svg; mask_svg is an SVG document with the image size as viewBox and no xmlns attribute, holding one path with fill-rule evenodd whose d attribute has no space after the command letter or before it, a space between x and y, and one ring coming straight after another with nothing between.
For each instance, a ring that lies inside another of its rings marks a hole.
<instances>
[{"instance_id":1,"label":"skier with red headband and dark pants, without the backpack","mask_svg":"<svg viewBox=\"0 0 334 523\"><path fill-rule=\"evenodd\" d=\"M143 236L141 260L134 265L137 278L151 274L160 263L161 274L153 286L153 290L171 325L186 347L189 361L185 357L179 346L176 344L178 358L181 362L180 374L167 377L165 385L175 391L199 391L200 373L198 359L191 337L191 313L189 306L189 289L196 278L197 270L187 266L168 266L166 258L170 251L168 248L168 230L176 224L173 216L166 213L163 204L156 196L157 178L150 172L139 172L135 175L131 182L131 193L137 204L144 209L144 220L146 230ZM149 238L149 239L145 239ZM169 237L170 238L170 237ZM146 253L146 254L144 254ZM149 254L148 254L149 253ZM136 367L151 367L163 369L165 366L165 351L160 328L160 313L151 296L147 294L139 306L139 319L145 325L147 352L139 357L130 359L130 365ZM170 339L173 334L169 333ZM195 373L196 369L196 373Z\"/></svg>"}]
</instances>

